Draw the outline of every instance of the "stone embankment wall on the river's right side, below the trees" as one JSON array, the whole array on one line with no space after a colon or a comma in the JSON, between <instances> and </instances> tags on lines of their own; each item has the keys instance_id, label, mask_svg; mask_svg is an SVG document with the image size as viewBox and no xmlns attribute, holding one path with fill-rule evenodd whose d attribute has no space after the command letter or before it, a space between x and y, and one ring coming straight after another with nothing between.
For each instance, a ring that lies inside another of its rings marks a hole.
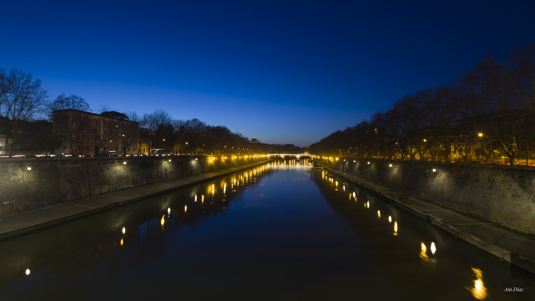
<instances>
[{"instance_id":1,"label":"stone embankment wall on the river's right side, below the trees","mask_svg":"<svg viewBox=\"0 0 535 301\"><path fill-rule=\"evenodd\" d=\"M324 164L535 234L535 168L343 157Z\"/></svg>"}]
</instances>

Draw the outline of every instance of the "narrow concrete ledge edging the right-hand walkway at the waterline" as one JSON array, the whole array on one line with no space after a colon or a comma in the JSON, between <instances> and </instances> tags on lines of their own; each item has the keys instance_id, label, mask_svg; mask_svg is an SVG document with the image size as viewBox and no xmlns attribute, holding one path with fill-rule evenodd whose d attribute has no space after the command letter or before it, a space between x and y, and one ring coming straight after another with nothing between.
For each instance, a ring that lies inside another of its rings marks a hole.
<instances>
[{"instance_id":1,"label":"narrow concrete ledge edging the right-hand walkway at the waterline","mask_svg":"<svg viewBox=\"0 0 535 301\"><path fill-rule=\"evenodd\" d=\"M328 167L325 167L325 166L324 166L324 168L326 170L328 170L328 171L333 172L335 174L334 176L343 178L343 179L347 180L348 182L354 183L354 184L364 188L365 190L368 190L368 191L378 195L379 197L381 197L382 199L386 200L390 204L392 204L392 205L394 205L394 206L396 206L398 208L401 208L401 209L405 210L406 212L412 213L412 214L416 215L417 217L419 217L419 218L421 218L423 220L426 220L426 221L430 222L435 227L446 231L450 235L453 235L453 236L455 236L457 238L460 238L460 239L464 240L465 242L467 242L467 243L469 243L469 244L471 244L473 246L476 246L478 249L483 250L483 251L485 251L485 252L487 252L489 254L494 255L495 257L498 257L502 261L508 262L511 265L514 265L514 266L519 267L519 268L521 268L523 270L526 270L527 272L535 274L535 262L533 262L532 260L530 260L528 258L525 258L525 257L522 257L521 255L515 254L513 252L507 251L507 250L503 249L502 247L499 247L499 246L494 245L492 243L485 242L484 240L479 239L478 237L472 235L471 233L469 233L467 231L462 231L460 229L455 228L453 225L445 223L443 220L439 219L438 217L435 217L435 216L433 216L431 214L423 213L420 210L417 210L416 208L414 208L414 207L412 207L410 205L403 204L403 202L401 202L399 200L396 200L396 199L390 197L389 195L386 195L383 192L380 192L380 191L378 191L376 189L373 189L372 187L370 187L368 185L365 185L364 183L361 183L358 180L351 179L351 178L347 177L346 175L340 174L340 171L338 171L338 170L334 170L332 168L328 168Z\"/></svg>"}]
</instances>

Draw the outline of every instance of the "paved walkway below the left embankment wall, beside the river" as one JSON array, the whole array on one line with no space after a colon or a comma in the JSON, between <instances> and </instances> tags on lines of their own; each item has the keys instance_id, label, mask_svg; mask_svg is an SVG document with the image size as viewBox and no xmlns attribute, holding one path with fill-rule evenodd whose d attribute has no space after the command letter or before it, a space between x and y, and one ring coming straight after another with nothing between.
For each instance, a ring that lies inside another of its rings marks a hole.
<instances>
[{"instance_id":1,"label":"paved walkway below the left embankment wall, beside the river","mask_svg":"<svg viewBox=\"0 0 535 301\"><path fill-rule=\"evenodd\" d=\"M29 212L7 215L0 219L0 240L80 219L81 217L148 199L155 195L181 189L182 187L192 186L209 179L232 174L236 171L262 165L270 161L271 160L265 160L237 167L205 172L204 174L195 176L136 187L133 189L99 195L97 197L70 201L65 204L36 209Z\"/></svg>"}]
</instances>

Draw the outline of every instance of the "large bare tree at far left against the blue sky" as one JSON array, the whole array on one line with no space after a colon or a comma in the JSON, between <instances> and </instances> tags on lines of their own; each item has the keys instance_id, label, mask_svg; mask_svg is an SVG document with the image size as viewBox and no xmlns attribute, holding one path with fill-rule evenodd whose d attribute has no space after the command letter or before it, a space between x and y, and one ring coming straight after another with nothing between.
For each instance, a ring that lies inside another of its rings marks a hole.
<instances>
[{"instance_id":1,"label":"large bare tree at far left against the blue sky","mask_svg":"<svg viewBox=\"0 0 535 301\"><path fill-rule=\"evenodd\" d=\"M31 73L12 69L9 74L0 69L0 97L3 116L9 119L12 131L9 157L13 155L13 146L26 131L26 122L44 112L47 104L47 91L41 88L41 80L33 78Z\"/></svg>"}]
</instances>

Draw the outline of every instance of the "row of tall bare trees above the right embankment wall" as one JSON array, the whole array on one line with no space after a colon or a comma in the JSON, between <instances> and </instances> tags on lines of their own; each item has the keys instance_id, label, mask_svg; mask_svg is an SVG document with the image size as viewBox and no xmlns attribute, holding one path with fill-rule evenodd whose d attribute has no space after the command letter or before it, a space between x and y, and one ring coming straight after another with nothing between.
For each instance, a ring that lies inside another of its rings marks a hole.
<instances>
[{"instance_id":1,"label":"row of tall bare trees above the right embankment wall","mask_svg":"<svg viewBox=\"0 0 535 301\"><path fill-rule=\"evenodd\" d=\"M505 62L487 55L447 86L405 95L312 144L310 152L528 164L534 142L535 43L509 50Z\"/></svg>"}]
</instances>

